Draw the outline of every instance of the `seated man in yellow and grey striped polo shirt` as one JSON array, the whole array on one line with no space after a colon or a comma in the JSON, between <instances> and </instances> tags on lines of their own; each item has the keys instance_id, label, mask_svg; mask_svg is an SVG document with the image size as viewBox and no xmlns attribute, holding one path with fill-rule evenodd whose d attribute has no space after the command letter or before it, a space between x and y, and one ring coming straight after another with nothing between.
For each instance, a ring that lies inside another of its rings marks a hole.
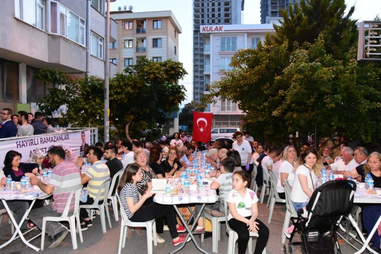
<instances>
[{"instance_id":1,"label":"seated man in yellow and grey striped polo shirt","mask_svg":"<svg viewBox=\"0 0 381 254\"><path fill-rule=\"evenodd\" d=\"M92 147L89 150L89 153L87 154L87 162L90 162L91 167L86 171L85 174L81 177L81 184L87 184L87 201L82 202L79 201L79 204L93 204L94 199L96 198L96 195L99 191L101 191L100 199L106 198L107 199L107 191L105 189L100 189L100 186L104 181L110 178L110 170L107 167L106 164L102 163L100 159L102 158L102 150L96 147ZM83 157L78 158L77 160L77 167L79 172L81 172L83 165ZM99 201L99 204L102 204L104 201ZM93 225L93 222L89 218L89 214L87 213L86 209L81 208L79 212L79 217L81 220L81 230L87 230L88 227L91 227Z\"/></svg>"}]
</instances>

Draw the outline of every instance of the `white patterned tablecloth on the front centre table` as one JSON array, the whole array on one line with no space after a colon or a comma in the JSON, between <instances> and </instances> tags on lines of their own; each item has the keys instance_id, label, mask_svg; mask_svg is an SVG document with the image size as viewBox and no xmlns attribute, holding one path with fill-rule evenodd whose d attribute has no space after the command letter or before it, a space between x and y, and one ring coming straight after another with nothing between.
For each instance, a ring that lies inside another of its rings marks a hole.
<instances>
[{"instance_id":1,"label":"white patterned tablecloth on the front centre table","mask_svg":"<svg viewBox=\"0 0 381 254\"><path fill-rule=\"evenodd\" d=\"M154 202L159 204L192 204L192 203L216 203L218 200L216 190L211 190L210 185L197 189L191 194L162 194L154 196Z\"/></svg>"}]
</instances>

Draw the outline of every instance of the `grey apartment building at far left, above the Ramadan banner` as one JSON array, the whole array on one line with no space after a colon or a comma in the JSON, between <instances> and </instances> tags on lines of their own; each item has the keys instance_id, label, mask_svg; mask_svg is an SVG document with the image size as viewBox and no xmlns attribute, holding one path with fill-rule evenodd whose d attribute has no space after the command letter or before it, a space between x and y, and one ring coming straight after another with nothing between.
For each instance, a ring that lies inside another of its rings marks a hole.
<instances>
[{"instance_id":1,"label":"grey apartment building at far left, above the Ramadan banner","mask_svg":"<svg viewBox=\"0 0 381 254\"><path fill-rule=\"evenodd\" d=\"M0 108L34 113L38 99L54 86L38 79L43 68L104 77L105 10L104 0L2 1ZM110 41L116 40L116 27L111 21ZM115 71L111 67L110 74Z\"/></svg>"}]
</instances>

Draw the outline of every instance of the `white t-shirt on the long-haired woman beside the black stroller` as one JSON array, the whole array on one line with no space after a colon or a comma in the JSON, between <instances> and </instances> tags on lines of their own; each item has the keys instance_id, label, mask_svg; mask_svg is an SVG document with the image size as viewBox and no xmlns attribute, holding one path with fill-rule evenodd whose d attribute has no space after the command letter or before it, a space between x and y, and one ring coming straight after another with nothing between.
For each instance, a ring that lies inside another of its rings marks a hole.
<instances>
[{"instance_id":1,"label":"white t-shirt on the long-haired woman beside the black stroller","mask_svg":"<svg viewBox=\"0 0 381 254\"><path fill-rule=\"evenodd\" d=\"M309 171L311 172L311 176L309 174ZM294 202L306 203L309 201L310 198L306 195L306 193L304 193L302 186L300 185L298 177L299 174L305 175L307 177L308 188L311 191L314 191L314 186L316 185L317 177L313 171L309 170L304 165L300 165L295 171L294 185L292 186L291 191L291 200Z\"/></svg>"}]
</instances>

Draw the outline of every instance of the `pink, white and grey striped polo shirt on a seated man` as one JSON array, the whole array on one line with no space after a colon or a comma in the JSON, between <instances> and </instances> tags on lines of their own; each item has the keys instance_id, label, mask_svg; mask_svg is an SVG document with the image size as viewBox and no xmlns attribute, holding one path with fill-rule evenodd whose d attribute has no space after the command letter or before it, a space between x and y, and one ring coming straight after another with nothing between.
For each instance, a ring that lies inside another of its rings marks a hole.
<instances>
[{"instance_id":1,"label":"pink, white and grey striped polo shirt on a seated man","mask_svg":"<svg viewBox=\"0 0 381 254\"><path fill-rule=\"evenodd\" d=\"M48 185L54 187L51 207L54 211L64 212L70 193L81 185L81 175L74 163L63 161L53 168ZM70 201L69 211L74 210L74 198Z\"/></svg>"}]
</instances>

